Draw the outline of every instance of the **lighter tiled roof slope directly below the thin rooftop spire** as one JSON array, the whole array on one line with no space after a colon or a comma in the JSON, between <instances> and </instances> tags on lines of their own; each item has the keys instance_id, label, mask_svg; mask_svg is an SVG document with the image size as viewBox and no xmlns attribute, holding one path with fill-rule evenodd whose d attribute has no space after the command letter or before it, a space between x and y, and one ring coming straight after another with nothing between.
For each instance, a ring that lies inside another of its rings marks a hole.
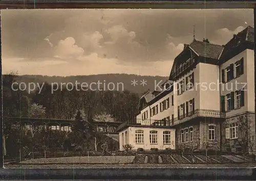
<instances>
[{"instance_id":1,"label":"lighter tiled roof slope directly below the thin rooftop spire","mask_svg":"<svg viewBox=\"0 0 256 181\"><path fill-rule=\"evenodd\" d=\"M223 47L221 45L194 40L189 44L199 56L218 59Z\"/></svg>"}]
</instances>

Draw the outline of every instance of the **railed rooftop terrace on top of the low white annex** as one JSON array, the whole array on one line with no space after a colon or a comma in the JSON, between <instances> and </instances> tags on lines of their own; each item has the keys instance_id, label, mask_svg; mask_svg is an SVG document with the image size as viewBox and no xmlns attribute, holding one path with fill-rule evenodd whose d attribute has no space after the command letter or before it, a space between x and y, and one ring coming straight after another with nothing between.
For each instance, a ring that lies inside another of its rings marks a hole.
<instances>
[{"instance_id":1,"label":"railed rooftop terrace on top of the low white annex","mask_svg":"<svg viewBox=\"0 0 256 181\"><path fill-rule=\"evenodd\" d=\"M155 120L155 119L133 119L123 122L119 126L119 130L129 126L145 126L145 127L169 127L172 120Z\"/></svg>"}]
</instances>

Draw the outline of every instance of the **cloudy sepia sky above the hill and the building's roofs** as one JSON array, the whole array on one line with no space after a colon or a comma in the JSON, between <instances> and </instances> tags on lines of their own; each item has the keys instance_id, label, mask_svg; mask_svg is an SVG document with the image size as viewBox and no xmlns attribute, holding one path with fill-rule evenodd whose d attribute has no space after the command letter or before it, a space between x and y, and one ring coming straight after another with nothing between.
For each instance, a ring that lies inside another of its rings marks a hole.
<instances>
[{"instance_id":1,"label":"cloudy sepia sky above the hill and the building's roofs","mask_svg":"<svg viewBox=\"0 0 256 181\"><path fill-rule=\"evenodd\" d=\"M1 10L2 71L168 76L184 43L226 44L253 9Z\"/></svg>"}]
</instances>

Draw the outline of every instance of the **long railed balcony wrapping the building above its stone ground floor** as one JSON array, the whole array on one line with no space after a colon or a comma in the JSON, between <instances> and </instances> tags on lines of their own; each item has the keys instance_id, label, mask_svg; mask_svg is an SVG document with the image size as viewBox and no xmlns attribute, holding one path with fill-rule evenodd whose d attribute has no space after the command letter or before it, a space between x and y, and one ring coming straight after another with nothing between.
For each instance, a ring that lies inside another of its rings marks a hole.
<instances>
[{"instance_id":1,"label":"long railed balcony wrapping the building above its stone ground floor","mask_svg":"<svg viewBox=\"0 0 256 181\"><path fill-rule=\"evenodd\" d=\"M185 115L180 115L179 117L174 118L174 120L172 121L172 125L177 125L182 122L186 122L188 120L200 117L225 118L225 113L216 110L196 109L195 111L191 111L186 113Z\"/></svg>"}]
</instances>

